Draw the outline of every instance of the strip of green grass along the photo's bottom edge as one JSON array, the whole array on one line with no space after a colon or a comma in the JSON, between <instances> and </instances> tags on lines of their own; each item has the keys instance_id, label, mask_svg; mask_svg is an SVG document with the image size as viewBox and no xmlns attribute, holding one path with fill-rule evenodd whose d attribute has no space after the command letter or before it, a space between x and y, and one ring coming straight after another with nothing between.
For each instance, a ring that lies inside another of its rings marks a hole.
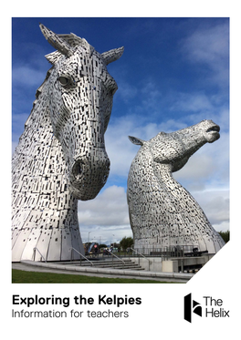
<instances>
[{"instance_id":1,"label":"strip of green grass along the photo's bottom edge","mask_svg":"<svg viewBox=\"0 0 241 340\"><path fill-rule=\"evenodd\" d=\"M163 283L152 280L105 278L66 273L37 273L12 270L12 283Z\"/></svg>"}]
</instances>

